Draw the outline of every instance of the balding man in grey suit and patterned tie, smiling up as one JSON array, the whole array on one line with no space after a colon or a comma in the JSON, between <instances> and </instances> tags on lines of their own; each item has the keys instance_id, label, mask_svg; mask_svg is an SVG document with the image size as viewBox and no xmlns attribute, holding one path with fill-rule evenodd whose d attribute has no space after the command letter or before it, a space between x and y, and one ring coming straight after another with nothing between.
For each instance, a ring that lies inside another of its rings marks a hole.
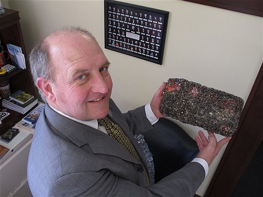
<instances>
[{"instance_id":1,"label":"balding man in grey suit and patterned tie, smiling up","mask_svg":"<svg viewBox=\"0 0 263 197\"><path fill-rule=\"evenodd\" d=\"M110 63L95 38L81 28L53 32L30 54L35 85L46 101L28 161L34 196L191 196L221 147L213 133L196 141L198 158L158 183L150 183L134 135L152 129L165 83L150 104L122 114L110 99ZM132 145L125 149L98 125L107 116ZM120 131L121 132L121 131ZM137 156L136 156L137 154Z\"/></svg>"}]
</instances>

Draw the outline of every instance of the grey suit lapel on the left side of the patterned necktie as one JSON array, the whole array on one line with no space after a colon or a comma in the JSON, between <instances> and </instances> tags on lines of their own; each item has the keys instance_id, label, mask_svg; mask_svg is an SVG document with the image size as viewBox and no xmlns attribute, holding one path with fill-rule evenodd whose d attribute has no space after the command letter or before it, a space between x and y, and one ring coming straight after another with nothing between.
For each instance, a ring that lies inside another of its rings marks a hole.
<instances>
[{"instance_id":1,"label":"grey suit lapel on the left side of the patterned necktie","mask_svg":"<svg viewBox=\"0 0 263 197\"><path fill-rule=\"evenodd\" d=\"M95 154L107 154L138 164L129 152L116 140L98 129L91 128L45 107L46 120L52 131L78 147L88 145Z\"/></svg>"}]
</instances>

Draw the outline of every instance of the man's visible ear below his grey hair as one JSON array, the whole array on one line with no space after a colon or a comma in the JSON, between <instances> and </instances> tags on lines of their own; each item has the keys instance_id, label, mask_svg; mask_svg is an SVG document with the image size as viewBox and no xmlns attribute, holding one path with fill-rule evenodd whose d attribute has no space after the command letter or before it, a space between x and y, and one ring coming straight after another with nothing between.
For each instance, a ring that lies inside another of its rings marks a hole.
<instances>
[{"instance_id":1,"label":"man's visible ear below his grey hair","mask_svg":"<svg viewBox=\"0 0 263 197\"><path fill-rule=\"evenodd\" d=\"M52 85L49 81L45 78L39 77L36 79L36 86L45 94L47 101L55 101L55 94L53 93Z\"/></svg>"}]
</instances>

